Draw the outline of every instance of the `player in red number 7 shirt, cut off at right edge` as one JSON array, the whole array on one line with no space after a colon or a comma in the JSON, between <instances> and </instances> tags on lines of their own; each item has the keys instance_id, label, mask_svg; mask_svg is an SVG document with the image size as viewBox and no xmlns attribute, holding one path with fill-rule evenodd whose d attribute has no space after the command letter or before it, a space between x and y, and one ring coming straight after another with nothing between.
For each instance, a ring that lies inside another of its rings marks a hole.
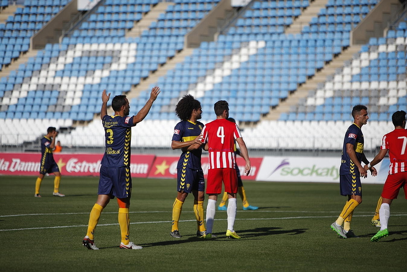
<instances>
[{"instance_id":1,"label":"player in red number 7 shirt, cut off at right edge","mask_svg":"<svg viewBox=\"0 0 407 272\"><path fill-rule=\"evenodd\" d=\"M382 237L389 235L387 224L390 217L390 205L397 198L400 188L404 188L405 198L407 199L407 130L406 112L399 110L392 115L394 130L385 134L382 138L382 144L379 154L374 157L370 164L365 165L364 169L372 169L373 165L378 164L389 151L389 174L383 186L381 197L383 203L379 209L380 230L370 239L370 241L379 241Z\"/></svg>"}]
</instances>

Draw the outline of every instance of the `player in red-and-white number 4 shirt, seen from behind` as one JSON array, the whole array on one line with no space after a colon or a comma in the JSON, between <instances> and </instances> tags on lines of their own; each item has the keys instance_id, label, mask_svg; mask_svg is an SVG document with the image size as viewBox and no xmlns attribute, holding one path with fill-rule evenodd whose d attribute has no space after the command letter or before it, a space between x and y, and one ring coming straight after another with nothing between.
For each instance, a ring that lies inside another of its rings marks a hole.
<instances>
[{"instance_id":1,"label":"player in red-and-white number 4 shirt, seen from behind","mask_svg":"<svg viewBox=\"0 0 407 272\"><path fill-rule=\"evenodd\" d=\"M236 218L237 175L235 170L235 140L239 144L245 159L245 174L249 175L251 165L246 144L236 123L227 120L229 117L228 102L220 100L215 103L216 120L206 124L202 129L202 138L206 143L204 149L209 151L209 170L206 194L209 195L206 207L206 234L204 239L212 238L212 227L216 211L216 201L222 191L222 181L228 193L228 229L226 237L240 239L234 231Z\"/></svg>"}]
</instances>

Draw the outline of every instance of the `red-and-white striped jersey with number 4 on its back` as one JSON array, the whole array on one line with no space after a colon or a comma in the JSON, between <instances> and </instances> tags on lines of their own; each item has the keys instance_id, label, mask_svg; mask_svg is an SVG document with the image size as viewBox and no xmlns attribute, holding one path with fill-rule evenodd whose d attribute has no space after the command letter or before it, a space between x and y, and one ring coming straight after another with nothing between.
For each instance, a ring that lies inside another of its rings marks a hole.
<instances>
[{"instance_id":1,"label":"red-and-white striped jersey with number 4 on its back","mask_svg":"<svg viewBox=\"0 0 407 272\"><path fill-rule=\"evenodd\" d=\"M208 143L209 169L234 168L234 140L241 138L237 124L216 119L202 129L204 143Z\"/></svg>"}]
</instances>

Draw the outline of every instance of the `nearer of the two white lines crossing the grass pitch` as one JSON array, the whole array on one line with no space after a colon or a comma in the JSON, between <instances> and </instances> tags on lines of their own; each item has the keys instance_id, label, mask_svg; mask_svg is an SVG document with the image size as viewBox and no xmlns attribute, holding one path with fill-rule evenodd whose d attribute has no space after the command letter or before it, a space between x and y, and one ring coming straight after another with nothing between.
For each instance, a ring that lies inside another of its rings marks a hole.
<instances>
[{"instance_id":1,"label":"nearer of the two white lines crossing the grass pitch","mask_svg":"<svg viewBox=\"0 0 407 272\"><path fill-rule=\"evenodd\" d=\"M366 217L371 215L354 215L354 217ZM407 213L392 214L391 216L407 216ZM236 218L236 220L281 220L281 219L304 219L304 218L332 218L332 216L297 216L297 217L274 217L274 218ZM215 220L227 220L227 219L215 219ZM180 220L179 222L194 222L196 220ZM149 222L133 222L130 224L157 224L157 223L171 223L172 221L149 221ZM98 224L98 226L114 226L113 224ZM53 227L36 227L36 228L11 228L3 229L0 231L12 231L12 230L40 230L47 228L74 228L74 227L87 227L88 225L72 225L72 226L53 226Z\"/></svg>"}]
</instances>

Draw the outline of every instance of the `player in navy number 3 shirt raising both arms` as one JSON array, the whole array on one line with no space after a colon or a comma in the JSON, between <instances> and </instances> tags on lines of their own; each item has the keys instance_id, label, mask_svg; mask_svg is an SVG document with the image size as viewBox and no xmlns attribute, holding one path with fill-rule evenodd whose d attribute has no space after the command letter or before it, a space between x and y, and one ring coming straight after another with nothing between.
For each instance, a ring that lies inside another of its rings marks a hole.
<instances>
[{"instance_id":1,"label":"player in navy number 3 shirt raising both arms","mask_svg":"<svg viewBox=\"0 0 407 272\"><path fill-rule=\"evenodd\" d=\"M107 101L109 101L110 93L106 94L106 90L102 92L101 119L105 129L106 149L101 162L98 198L90 211L88 231L82 241L82 245L88 249L98 250L94 243L95 228L103 208L114 197L117 197L119 205L120 248L142 249L141 246L136 246L129 240L131 127L140 123L147 116L159 93L160 88L155 86L151 90L147 103L135 116L128 116L130 106L126 96L116 95L112 100L114 115L110 116L107 115Z\"/></svg>"}]
</instances>

